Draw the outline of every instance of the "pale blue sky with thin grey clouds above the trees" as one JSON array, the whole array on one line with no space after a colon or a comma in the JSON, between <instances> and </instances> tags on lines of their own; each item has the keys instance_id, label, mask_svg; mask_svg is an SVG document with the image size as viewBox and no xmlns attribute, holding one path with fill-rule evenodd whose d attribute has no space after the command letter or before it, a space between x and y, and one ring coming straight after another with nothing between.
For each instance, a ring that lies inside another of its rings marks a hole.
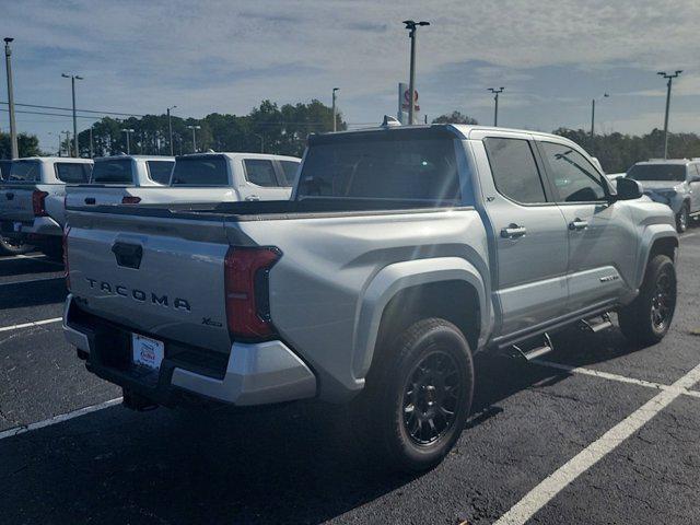
<instances>
[{"instance_id":1,"label":"pale blue sky with thin grey clouds above the trees","mask_svg":"<svg viewBox=\"0 0 700 525\"><path fill-rule=\"evenodd\" d=\"M669 128L700 132L698 0L0 0L0 36L15 38L15 103L70 107L63 72L84 77L79 108L163 114L177 105L176 115L195 118L247 114L264 98L330 105L337 86L352 127L396 114L407 19L431 24L419 30L416 75L429 119L457 109L490 125L487 89L504 86L500 126L590 129L592 98L609 93L596 105L596 131L640 135L663 127L666 84L656 72L684 70ZM60 116L16 117L47 151L72 127Z\"/></svg>"}]
</instances>

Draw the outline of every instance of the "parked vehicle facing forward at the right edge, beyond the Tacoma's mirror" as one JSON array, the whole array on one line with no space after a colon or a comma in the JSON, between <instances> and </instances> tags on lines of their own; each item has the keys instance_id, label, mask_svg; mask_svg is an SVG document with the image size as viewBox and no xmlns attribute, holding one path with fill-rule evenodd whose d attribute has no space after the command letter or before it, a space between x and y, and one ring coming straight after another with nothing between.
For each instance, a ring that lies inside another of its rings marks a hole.
<instances>
[{"instance_id":1,"label":"parked vehicle facing forward at the right edge, beyond the Tacoma's mirror","mask_svg":"<svg viewBox=\"0 0 700 525\"><path fill-rule=\"evenodd\" d=\"M682 233L690 219L700 217L700 161L652 160L638 162L627 177L642 183L644 194L670 207L676 230Z\"/></svg>"}]
</instances>

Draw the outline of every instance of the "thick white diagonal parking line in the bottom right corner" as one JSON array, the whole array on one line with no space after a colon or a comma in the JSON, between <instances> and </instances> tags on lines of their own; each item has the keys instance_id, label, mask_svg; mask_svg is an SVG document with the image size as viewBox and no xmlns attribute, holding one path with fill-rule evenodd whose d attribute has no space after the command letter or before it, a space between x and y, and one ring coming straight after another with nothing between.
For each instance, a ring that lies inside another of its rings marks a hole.
<instances>
[{"instance_id":1,"label":"thick white diagonal parking line in the bottom right corner","mask_svg":"<svg viewBox=\"0 0 700 525\"><path fill-rule=\"evenodd\" d=\"M605 434L562 465L503 514L495 525L522 525L537 511L549 503L559 492L579 476L617 448L625 440L641 429L654 416L700 381L700 365L692 369L673 385L674 389L663 389L642 407L608 430Z\"/></svg>"}]
</instances>

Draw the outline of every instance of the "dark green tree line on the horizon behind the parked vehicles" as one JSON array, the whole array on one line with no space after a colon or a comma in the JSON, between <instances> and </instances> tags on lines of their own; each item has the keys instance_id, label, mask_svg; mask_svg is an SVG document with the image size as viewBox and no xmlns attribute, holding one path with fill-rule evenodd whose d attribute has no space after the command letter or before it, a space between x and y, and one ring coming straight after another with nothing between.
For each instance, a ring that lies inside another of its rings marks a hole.
<instances>
[{"instance_id":1,"label":"dark green tree line on the horizon behind the parked vehicles","mask_svg":"<svg viewBox=\"0 0 700 525\"><path fill-rule=\"evenodd\" d=\"M337 115L337 129L347 129L342 115ZM453 112L441 115L434 124L478 124L476 119ZM195 130L197 151L247 151L300 156L312 132L332 129L332 109L317 100L308 104L284 104L279 106L262 101L248 115L212 113L201 119L172 116L173 151L176 155L192 153L192 132L187 126L199 126ZM145 115L118 119L105 117L92 126L93 156L114 155L127 152L127 133L130 133L129 150L136 154L168 155L170 132L166 115ZM583 129L559 128L556 135L573 140L596 156L607 173L627 171L632 164L663 156L664 133L660 129L642 136L619 132L591 137ZM18 137L20 156L39 155L38 139L28 133ZM63 141L63 151L72 150L72 140ZM90 156L90 130L79 133L81 156ZM668 156L674 159L700 158L700 137L697 133L669 133ZM0 159L10 158L10 136L0 132Z\"/></svg>"}]
</instances>

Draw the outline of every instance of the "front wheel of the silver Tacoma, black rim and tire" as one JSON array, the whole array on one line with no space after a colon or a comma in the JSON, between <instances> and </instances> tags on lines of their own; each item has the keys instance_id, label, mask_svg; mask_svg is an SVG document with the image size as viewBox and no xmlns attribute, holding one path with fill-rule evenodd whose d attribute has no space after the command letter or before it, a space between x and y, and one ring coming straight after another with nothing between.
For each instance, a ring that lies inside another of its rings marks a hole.
<instances>
[{"instance_id":1,"label":"front wheel of the silver Tacoma, black rim and tire","mask_svg":"<svg viewBox=\"0 0 700 525\"><path fill-rule=\"evenodd\" d=\"M656 255L646 266L639 295L618 313L620 329L630 341L655 345L668 332L675 311L676 268L668 256Z\"/></svg>"}]
</instances>

